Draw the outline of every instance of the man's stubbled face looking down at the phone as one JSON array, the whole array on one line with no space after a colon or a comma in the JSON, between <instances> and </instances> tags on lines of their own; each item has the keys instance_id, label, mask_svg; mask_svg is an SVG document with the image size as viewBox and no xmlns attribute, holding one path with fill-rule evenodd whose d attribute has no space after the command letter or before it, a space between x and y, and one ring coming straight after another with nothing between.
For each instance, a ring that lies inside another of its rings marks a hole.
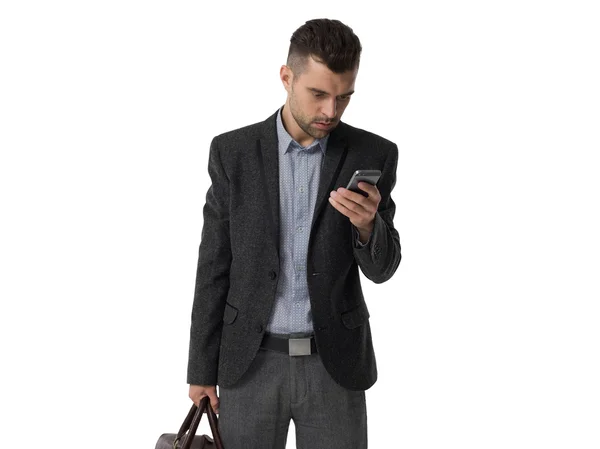
<instances>
[{"instance_id":1,"label":"man's stubbled face looking down at the phone","mask_svg":"<svg viewBox=\"0 0 600 449\"><path fill-rule=\"evenodd\" d=\"M295 122L290 124L292 130L288 132L298 143L307 145L325 137L339 124L354 92L358 68L334 73L325 64L308 58L299 76L294 77L287 66L282 67L281 74L288 92L289 112Z\"/></svg>"}]
</instances>

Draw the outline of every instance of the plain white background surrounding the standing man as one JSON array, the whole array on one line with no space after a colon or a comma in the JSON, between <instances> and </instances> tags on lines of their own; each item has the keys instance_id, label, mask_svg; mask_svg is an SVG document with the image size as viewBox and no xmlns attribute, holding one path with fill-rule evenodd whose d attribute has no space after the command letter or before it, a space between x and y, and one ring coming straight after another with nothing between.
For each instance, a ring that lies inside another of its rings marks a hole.
<instances>
[{"instance_id":1,"label":"plain white background surrounding the standing man","mask_svg":"<svg viewBox=\"0 0 600 449\"><path fill-rule=\"evenodd\" d=\"M328 17L364 49L344 121L400 151L370 447L600 447L593 3L2 2L2 446L179 428L210 140Z\"/></svg>"}]
</instances>

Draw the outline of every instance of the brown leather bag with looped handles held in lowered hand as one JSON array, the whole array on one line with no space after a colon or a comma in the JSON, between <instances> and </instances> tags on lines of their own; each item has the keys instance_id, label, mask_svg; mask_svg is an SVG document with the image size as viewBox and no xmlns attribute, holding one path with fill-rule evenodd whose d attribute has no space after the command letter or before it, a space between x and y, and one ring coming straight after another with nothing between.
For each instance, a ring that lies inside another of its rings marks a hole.
<instances>
[{"instance_id":1,"label":"brown leather bag with looped handles held in lowered hand","mask_svg":"<svg viewBox=\"0 0 600 449\"><path fill-rule=\"evenodd\" d=\"M192 405L185 421L181 425L179 432L163 433L156 443L155 449L224 449L221 435L219 434L219 422L217 415L212 409L208 396L200 401L200 406ZM208 435L196 436L196 430L200 424L200 419L206 410L208 423L213 437Z\"/></svg>"}]
</instances>

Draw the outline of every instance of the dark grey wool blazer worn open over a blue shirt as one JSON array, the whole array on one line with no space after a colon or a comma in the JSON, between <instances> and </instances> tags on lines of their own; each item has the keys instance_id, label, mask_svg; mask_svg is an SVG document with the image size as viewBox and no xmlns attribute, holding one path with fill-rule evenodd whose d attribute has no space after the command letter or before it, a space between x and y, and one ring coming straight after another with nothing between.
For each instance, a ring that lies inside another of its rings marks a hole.
<instances>
[{"instance_id":1,"label":"dark grey wool blazer worn open over a blue shirt","mask_svg":"<svg viewBox=\"0 0 600 449\"><path fill-rule=\"evenodd\" d=\"M269 322L280 269L276 116L211 143L189 384L232 386L250 366ZM396 144L343 122L331 132L323 157L306 275L318 353L333 379L351 390L366 390L377 380L358 267L379 284L400 263L390 197L397 165ZM364 248L355 247L349 218L328 201L329 192L345 187L357 169L382 171L382 199Z\"/></svg>"}]
</instances>

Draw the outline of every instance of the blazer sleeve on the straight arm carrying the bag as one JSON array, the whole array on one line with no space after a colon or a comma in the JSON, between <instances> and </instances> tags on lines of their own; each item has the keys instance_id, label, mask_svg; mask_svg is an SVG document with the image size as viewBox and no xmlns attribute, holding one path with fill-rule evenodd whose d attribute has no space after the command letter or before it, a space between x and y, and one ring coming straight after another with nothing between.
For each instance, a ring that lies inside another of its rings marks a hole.
<instances>
[{"instance_id":1,"label":"blazer sleeve on the straight arm carrying the bag","mask_svg":"<svg viewBox=\"0 0 600 449\"><path fill-rule=\"evenodd\" d=\"M196 286L192 306L187 383L216 385L223 312L229 291L229 179L223 168L217 138L210 146Z\"/></svg>"}]
</instances>

